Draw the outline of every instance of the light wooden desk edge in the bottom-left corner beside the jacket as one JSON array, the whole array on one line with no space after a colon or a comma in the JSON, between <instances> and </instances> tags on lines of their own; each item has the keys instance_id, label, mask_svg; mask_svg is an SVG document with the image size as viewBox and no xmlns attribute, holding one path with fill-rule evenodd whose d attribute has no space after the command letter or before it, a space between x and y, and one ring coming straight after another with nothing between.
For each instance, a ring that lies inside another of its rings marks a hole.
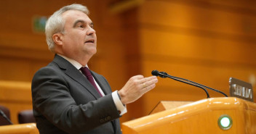
<instances>
[{"instance_id":1,"label":"light wooden desk edge in the bottom-left corner beside the jacket","mask_svg":"<svg viewBox=\"0 0 256 134\"><path fill-rule=\"evenodd\" d=\"M39 134L36 123L0 126L1 134Z\"/></svg>"}]
</instances>

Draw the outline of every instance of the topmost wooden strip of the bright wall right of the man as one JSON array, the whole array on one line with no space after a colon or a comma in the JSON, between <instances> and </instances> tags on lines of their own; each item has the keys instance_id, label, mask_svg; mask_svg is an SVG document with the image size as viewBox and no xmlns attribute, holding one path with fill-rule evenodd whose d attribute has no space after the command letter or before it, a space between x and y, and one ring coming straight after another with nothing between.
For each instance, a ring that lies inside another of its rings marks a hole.
<instances>
[{"instance_id":1,"label":"topmost wooden strip of the bright wall right of the man","mask_svg":"<svg viewBox=\"0 0 256 134\"><path fill-rule=\"evenodd\" d=\"M244 13L247 7L240 10L236 7L220 7L223 6L210 3L202 5L199 1L146 1L140 10L140 22L232 35L255 35L255 14Z\"/></svg>"}]
</instances>

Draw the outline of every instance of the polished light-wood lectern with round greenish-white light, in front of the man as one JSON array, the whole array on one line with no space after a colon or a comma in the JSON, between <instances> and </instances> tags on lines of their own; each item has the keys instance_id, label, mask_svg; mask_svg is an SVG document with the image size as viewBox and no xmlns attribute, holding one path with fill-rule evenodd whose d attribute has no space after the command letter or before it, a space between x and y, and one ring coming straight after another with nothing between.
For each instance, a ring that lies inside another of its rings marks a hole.
<instances>
[{"instance_id":1,"label":"polished light-wood lectern with round greenish-white light, in front of the man","mask_svg":"<svg viewBox=\"0 0 256 134\"><path fill-rule=\"evenodd\" d=\"M171 105L172 101L165 103ZM203 99L172 109L159 106L157 111L164 111L124 122L123 134L256 133L256 104L251 101L225 97Z\"/></svg>"}]
</instances>

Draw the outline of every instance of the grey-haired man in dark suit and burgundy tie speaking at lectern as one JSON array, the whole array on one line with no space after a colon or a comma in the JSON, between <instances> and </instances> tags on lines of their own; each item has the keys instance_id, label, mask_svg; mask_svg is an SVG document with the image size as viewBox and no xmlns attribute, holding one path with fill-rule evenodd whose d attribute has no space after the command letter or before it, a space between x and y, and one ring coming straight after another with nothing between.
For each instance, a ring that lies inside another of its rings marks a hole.
<instances>
[{"instance_id":1,"label":"grey-haired man in dark suit and burgundy tie speaking at lectern","mask_svg":"<svg viewBox=\"0 0 256 134\"><path fill-rule=\"evenodd\" d=\"M72 4L47 21L49 50L55 58L32 80L33 114L41 134L120 134L126 104L153 89L157 78L136 75L112 93L102 75L88 69L97 38L87 7Z\"/></svg>"}]
</instances>

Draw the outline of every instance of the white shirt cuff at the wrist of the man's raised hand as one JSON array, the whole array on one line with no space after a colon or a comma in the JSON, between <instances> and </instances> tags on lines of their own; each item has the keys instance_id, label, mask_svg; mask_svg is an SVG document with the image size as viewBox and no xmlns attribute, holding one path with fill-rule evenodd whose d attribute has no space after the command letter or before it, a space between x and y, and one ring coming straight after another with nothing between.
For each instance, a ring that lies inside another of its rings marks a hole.
<instances>
[{"instance_id":1,"label":"white shirt cuff at the wrist of the man's raised hand","mask_svg":"<svg viewBox=\"0 0 256 134\"><path fill-rule=\"evenodd\" d=\"M113 102L116 104L116 109L119 111L120 115L127 113L127 105L123 105L121 100L119 99L119 95L117 91L112 93Z\"/></svg>"}]
</instances>

